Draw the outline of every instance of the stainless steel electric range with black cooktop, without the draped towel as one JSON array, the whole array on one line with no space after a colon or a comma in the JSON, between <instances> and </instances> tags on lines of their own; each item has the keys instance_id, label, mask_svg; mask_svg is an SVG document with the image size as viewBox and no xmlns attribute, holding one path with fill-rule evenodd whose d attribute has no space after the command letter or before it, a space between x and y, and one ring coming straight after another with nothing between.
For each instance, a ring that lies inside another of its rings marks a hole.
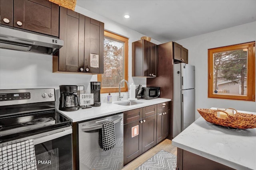
<instances>
[{"instance_id":1,"label":"stainless steel electric range with black cooktop, without the draped towel","mask_svg":"<svg viewBox=\"0 0 256 170\"><path fill-rule=\"evenodd\" d=\"M33 140L38 170L72 170L71 124L52 88L0 90L0 148Z\"/></svg>"}]
</instances>

